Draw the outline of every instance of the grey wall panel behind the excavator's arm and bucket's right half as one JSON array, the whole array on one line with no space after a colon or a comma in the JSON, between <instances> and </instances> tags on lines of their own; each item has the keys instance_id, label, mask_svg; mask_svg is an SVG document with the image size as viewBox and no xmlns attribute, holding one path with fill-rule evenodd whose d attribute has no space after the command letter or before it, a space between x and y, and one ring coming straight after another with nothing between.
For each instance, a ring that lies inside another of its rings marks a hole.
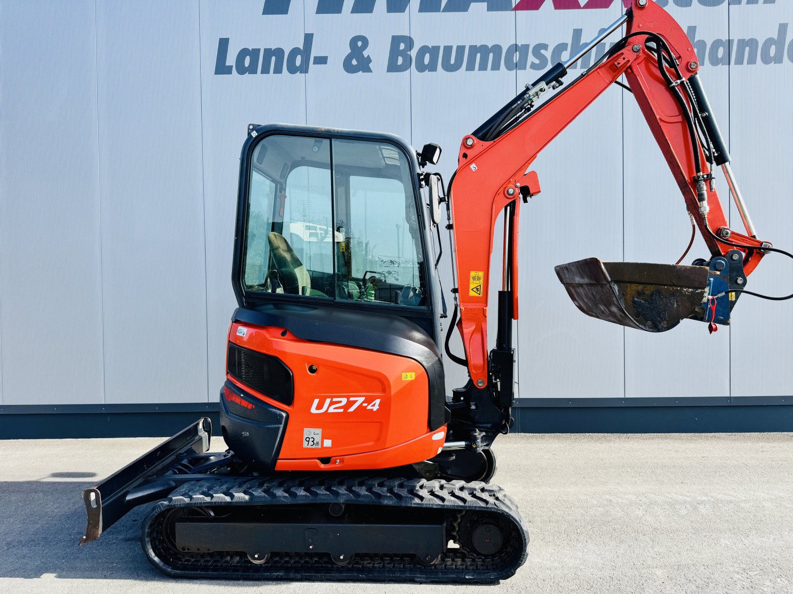
<instances>
[{"instance_id":1,"label":"grey wall panel behind the excavator's arm and bucket's right half","mask_svg":"<svg viewBox=\"0 0 793 594\"><path fill-rule=\"evenodd\" d=\"M723 6L667 7L695 39L712 40L729 36L728 12ZM695 48L695 51L698 48ZM701 49L701 48L700 48ZM703 59L700 78L707 91L722 131L729 138L728 70L713 67ZM691 223L680 188L669 171L661 150L650 133L642 112L630 94L623 97L625 109L625 260L674 264L691 238ZM728 196L718 180L719 196ZM726 205L726 200L725 200ZM683 264L697 257L710 257L699 238ZM743 305L743 304L741 304ZM739 307L735 319L745 319ZM730 329L720 327L708 334L701 322L680 322L662 334L625 329L625 395L628 398L729 396L727 374L703 373L730 361Z\"/></svg>"}]
</instances>

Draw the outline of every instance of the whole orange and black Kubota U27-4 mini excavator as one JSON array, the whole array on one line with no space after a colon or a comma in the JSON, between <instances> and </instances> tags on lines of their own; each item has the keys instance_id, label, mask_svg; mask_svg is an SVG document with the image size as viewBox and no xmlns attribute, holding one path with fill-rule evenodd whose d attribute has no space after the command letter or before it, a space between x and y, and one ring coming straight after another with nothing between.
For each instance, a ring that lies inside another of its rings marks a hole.
<instances>
[{"instance_id":1,"label":"whole orange and black Kubota U27-4 mini excavator","mask_svg":"<svg viewBox=\"0 0 793 594\"><path fill-rule=\"evenodd\" d=\"M623 26L611 49L563 85L573 64L592 59ZM592 258L558 266L586 314L653 333L692 319L712 332L730 323L764 254L781 252L757 238L699 70L680 25L653 0L633 0L577 55L463 137L446 188L427 171L441 152L432 143L418 151L387 134L251 125L232 265L239 307L220 390L228 450L209 452L203 418L86 489L81 543L155 503L144 552L174 577L511 577L526 560L527 529L489 482L492 444L512 424L519 211L540 192L531 170L540 151L611 85L625 87L711 252L692 265ZM718 167L743 231L726 220ZM446 341L437 272L444 207L457 284ZM500 218L503 269L489 349ZM455 330L460 354L450 349ZM451 394L443 348L447 365L469 373Z\"/></svg>"}]
</instances>

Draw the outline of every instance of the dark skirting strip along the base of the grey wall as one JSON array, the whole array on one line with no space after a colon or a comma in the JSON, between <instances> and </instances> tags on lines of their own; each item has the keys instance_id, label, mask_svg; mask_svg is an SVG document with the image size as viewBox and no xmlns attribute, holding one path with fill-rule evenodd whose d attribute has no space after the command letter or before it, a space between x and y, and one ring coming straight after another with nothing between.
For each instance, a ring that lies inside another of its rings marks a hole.
<instances>
[{"instance_id":1,"label":"dark skirting strip along the base of the grey wall","mask_svg":"<svg viewBox=\"0 0 793 594\"><path fill-rule=\"evenodd\" d=\"M217 404L0 406L0 439L164 437L198 417L212 419ZM688 433L793 432L793 397L734 398L519 398L514 432Z\"/></svg>"}]
</instances>

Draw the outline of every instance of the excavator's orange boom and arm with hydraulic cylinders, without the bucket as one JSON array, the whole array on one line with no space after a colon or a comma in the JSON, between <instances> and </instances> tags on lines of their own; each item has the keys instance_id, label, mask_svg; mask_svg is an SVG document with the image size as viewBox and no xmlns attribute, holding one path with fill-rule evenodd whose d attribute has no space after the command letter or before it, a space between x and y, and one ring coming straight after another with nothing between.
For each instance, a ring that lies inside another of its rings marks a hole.
<instances>
[{"instance_id":1,"label":"excavator's orange boom and arm with hydraulic cylinders, without the bucket","mask_svg":"<svg viewBox=\"0 0 793 594\"><path fill-rule=\"evenodd\" d=\"M623 24L626 25L623 43L617 44L600 63L531 115L527 112L534 101L560 86L567 67L580 59L586 50L567 63L551 68L525 93L462 140L458 169L450 190L459 284L458 329L462 333L470 377L479 388L488 385L488 286L496 219L501 211L505 211L506 219L511 223L505 225L512 230L509 246L505 243L504 262L507 264L502 280L504 291L508 291L511 298L510 317L517 319L517 214L520 198L526 201L528 196L539 192L537 175L529 171L529 167L542 149L623 74L711 253L724 256L741 246L744 271L749 274L763 256L760 249L753 248L768 246L754 237L749 215L745 215L740 193L726 163L729 155L712 116L703 113L702 105L699 105L699 110L691 105L695 101L678 88L690 85L689 89L694 86L701 89L695 77L699 60L683 29L652 0L634 0L626 14L596 41ZM589 48L592 47L590 44ZM661 67L659 47L667 48L677 64L665 58ZM703 94L702 97L704 99ZM688 121L688 118L702 116L711 118L705 125L714 131L714 140L718 139L715 147L708 147L708 153L692 136L693 128ZM738 202L746 234L728 228L712 182L713 165L727 168L725 173ZM722 242L728 238L730 243Z\"/></svg>"}]
</instances>

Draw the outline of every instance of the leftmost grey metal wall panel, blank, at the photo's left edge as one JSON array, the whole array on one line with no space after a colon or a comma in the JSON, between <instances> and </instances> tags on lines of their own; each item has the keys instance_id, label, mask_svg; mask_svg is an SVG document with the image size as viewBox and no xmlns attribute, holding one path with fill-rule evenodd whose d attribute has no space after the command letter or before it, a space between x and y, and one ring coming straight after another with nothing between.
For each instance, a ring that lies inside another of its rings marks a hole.
<instances>
[{"instance_id":1,"label":"leftmost grey metal wall panel, blank, at the photo's left edge","mask_svg":"<svg viewBox=\"0 0 793 594\"><path fill-rule=\"evenodd\" d=\"M94 19L93 2L2 6L5 404L103 398Z\"/></svg>"}]
</instances>

